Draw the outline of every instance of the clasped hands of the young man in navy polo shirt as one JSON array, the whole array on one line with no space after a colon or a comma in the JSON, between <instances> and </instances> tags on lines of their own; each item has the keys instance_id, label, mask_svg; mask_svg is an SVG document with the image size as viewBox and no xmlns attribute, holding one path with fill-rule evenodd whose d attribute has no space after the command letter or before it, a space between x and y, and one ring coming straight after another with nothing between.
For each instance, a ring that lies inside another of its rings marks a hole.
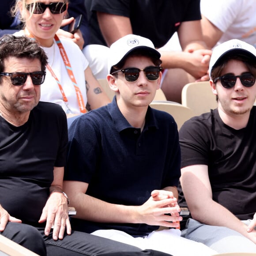
<instances>
[{"instance_id":1,"label":"clasped hands of the young man in navy polo shirt","mask_svg":"<svg viewBox=\"0 0 256 256\"><path fill-rule=\"evenodd\" d=\"M173 192L154 190L151 192L151 197L138 207L139 223L178 228L182 220L179 215L180 211Z\"/></svg>"}]
</instances>

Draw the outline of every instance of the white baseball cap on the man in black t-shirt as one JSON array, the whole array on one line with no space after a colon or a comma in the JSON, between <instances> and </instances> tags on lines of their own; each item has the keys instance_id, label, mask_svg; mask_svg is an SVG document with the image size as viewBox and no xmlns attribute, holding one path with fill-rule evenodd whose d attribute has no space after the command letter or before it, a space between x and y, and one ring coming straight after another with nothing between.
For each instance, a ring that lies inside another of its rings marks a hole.
<instances>
[{"instance_id":1,"label":"white baseball cap on the man in black t-shirt","mask_svg":"<svg viewBox=\"0 0 256 256\"><path fill-rule=\"evenodd\" d=\"M230 53L242 54L256 60L256 49L254 48L254 46L238 39L232 39L232 40L226 41L216 46L215 49L213 49L213 52L211 54L210 64L209 64L210 78L211 78L212 68L215 67L215 65L218 63L219 60L221 60L224 56Z\"/></svg>"}]
</instances>

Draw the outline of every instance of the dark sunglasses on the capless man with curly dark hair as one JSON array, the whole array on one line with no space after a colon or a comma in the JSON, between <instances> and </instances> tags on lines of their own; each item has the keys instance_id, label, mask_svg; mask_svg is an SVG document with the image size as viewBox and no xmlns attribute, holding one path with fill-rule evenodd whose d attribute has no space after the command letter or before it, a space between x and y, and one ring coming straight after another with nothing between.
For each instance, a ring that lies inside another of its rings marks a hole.
<instances>
[{"instance_id":1,"label":"dark sunglasses on the capless man with curly dark hair","mask_svg":"<svg viewBox=\"0 0 256 256\"><path fill-rule=\"evenodd\" d=\"M26 83L27 75L30 75L30 78L34 85L40 85L45 81L45 74L46 74L45 71L37 71L37 72L31 72L31 73L23 73L23 72L15 72L15 73L1 72L0 73L0 75L10 76L11 83L13 85L18 85L18 86Z\"/></svg>"}]
</instances>

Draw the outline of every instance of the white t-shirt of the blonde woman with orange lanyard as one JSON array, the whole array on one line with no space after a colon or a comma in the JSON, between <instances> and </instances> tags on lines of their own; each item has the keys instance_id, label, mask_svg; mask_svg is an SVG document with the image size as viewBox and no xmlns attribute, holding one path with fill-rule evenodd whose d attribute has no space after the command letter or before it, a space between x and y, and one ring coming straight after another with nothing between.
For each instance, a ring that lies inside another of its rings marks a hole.
<instances>
[{"instance_id":1,"label":"white t-shirt of the blonde woman with orange lanyard","mask_svg":"<svg viewBox=\"0 0 256 256\"><path fill-rule=\"evenodd\" d=\"M16 36L24 35L23 30L15 33ZM70 61L72 71L75 76L76 83L81 90L83 95L84 104L87 104L87 93L86 93L86 85L85 85L85 76L84 71L88 67L88 61L83 55L82 51L79 49L78 45L76 45L73 41L67 38L60 38L62 45L68 55L68 59ZM53 69L54 74L60 81L60 84L64 90L66 97L68 98L68 105L71 109L72 113L80 113L79 104L77 101L75 87L68 75L67 69L65 67L64 61L60 55L60 50L56 42L54 41L51 47L42 47L47 56L48 63L50 67ZM65 112L68 111L68 108L63 100L63 96L60 92L60 88L46 68L46 77L45 82L41 85L41 101L44 102L53 102L62 106Z\"/></svg>"}]
</instances>

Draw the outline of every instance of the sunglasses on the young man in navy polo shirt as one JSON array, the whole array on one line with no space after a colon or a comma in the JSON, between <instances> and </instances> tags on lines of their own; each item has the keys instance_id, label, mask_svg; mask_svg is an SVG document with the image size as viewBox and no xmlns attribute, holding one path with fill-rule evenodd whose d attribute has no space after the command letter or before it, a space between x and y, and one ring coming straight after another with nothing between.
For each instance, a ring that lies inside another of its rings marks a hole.
<instances>
[{"instance_id":1,"label":"sunglasses on the young man in navy polo shirt","mask_svg":"<svg viewBox=\"0 0 256 256\"><path fill-rule=\"evenodd\" d=\"M161 70L162 70L162 67L154 67L154 66L150 66L144 69L123 68L123 69L112 72L112 74L115 74L117 72L123 72L124 78L126 79L126 81L135 82L139 78L140 71L143 71L147 80L155 81L159 78Z\"/></svg>"}]
</instances>

